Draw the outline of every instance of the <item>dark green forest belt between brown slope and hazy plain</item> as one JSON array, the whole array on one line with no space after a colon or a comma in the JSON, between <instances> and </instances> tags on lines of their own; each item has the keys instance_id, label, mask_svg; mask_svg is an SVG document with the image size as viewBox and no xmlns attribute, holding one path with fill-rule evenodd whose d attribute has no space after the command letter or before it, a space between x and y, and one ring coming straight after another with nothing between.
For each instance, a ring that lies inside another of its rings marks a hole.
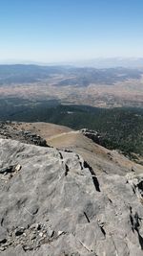
<instances>
[{"instance_id":1,"label":"dark green forest belt between brown slope and hazy plain","mask_svg":"<svg viewBox=\"0 0 143 256\"><path fill-rule=\"evenodd\" d=\"M19 99L0 99L0 120L49 122L74 129L97 130L102 145L132 156L143 155L143 109L103 109L87 105L59 105L57 101L31 103Z\"/></svg>"}]
</instances>

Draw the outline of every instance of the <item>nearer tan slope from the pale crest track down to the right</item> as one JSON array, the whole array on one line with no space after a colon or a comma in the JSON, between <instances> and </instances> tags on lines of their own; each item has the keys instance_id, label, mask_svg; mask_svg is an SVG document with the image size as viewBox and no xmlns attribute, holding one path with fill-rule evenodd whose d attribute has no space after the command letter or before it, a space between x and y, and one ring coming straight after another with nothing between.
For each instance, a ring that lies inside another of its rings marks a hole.
<instances>
[{"instance_id":1,"label":"nearer tan slope from the pale crest track down to the right","mask_svg":"<svg viewBox=\"0 0 143 256\"><path fill-rule=\"evenodd\" d=\"M119 175L135 169L143 170L142 166L133 163L133 161L130 161L117 151L110 151L93 143L91 139L85 137L80 131L70 131L51 136L47 139L47 142L58 149L69 149L82 155L96 172L116 173Z\"/></svg>"}]
</instances>

